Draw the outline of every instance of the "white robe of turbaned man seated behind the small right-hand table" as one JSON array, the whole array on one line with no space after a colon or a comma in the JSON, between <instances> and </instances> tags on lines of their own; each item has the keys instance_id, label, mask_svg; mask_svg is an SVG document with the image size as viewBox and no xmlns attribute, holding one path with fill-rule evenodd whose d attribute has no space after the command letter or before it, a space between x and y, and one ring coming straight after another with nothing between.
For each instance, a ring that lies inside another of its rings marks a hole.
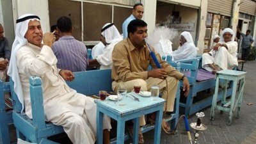
<instances>
[{"instance_id":1,"label":"white robe of turbaned man seated behind the small right-hand table","mask_svg":"<svg viewBox=\"0 0 256 144\"><path fill-rule=\"evenodd\" d=\"M218 65L222 70L227 70L228 68L233 68L237 66L237 42L226 42L226 47L219 47L218 51L212 51L214 54L211 56L208 53L202 55L202 67L209 72L212 72L212 68L208 64L214 63ZM210 52L211 53L211 52Z\"/></svg>"}]
</instances>

